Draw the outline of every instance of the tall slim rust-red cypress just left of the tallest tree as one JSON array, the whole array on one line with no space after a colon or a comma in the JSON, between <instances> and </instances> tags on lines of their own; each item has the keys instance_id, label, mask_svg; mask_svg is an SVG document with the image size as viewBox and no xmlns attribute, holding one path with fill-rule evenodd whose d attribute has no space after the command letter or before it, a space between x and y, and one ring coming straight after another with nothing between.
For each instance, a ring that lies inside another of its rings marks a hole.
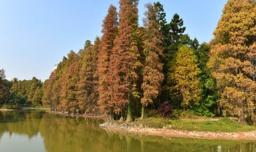
<instances>
[{"instance_id":1,"label":"tall slim rust-red cypress just left of the tallest tree","mask_svg":"<svg viewBox=\"0 0 256 152\"><path fill-rule=\"evenodd\" d=\"M118 13L115 6L110 6L102 25L102 42L98 53L98 105L112 117L114 110L110 103L110 56L113 54L114 38L117 34Z\"/></svg>"}]
</instances>

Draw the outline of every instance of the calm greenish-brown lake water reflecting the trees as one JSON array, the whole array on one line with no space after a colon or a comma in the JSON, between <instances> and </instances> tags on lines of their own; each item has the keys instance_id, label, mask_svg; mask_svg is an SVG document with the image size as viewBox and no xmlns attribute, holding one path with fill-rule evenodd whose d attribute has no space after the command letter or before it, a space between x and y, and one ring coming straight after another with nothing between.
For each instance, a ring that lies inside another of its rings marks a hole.
<instances>
[{"instance_id":1,"label":"calm greenish-brown lake water reflecting the trees","mask_svg":"<svg viewBox=\"0 0 256 152\"><path fill-rule=\"evenodd\" d=\"M42 111L0 111L1 152L256 151L255 142L161 138L114 134L98 119L68 118Z\"/></svg>"}]
</instances>

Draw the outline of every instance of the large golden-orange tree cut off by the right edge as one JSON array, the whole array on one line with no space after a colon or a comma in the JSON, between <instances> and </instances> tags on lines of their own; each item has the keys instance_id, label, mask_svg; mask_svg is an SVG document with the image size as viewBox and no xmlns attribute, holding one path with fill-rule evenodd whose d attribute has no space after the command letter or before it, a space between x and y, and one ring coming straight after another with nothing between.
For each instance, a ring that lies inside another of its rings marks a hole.
<instances>
[{"instance_id":1,"label":"large golden-orange tree cut off by the right edge","mask_svg":"<svg viewBox=\"0 0 256 152\"><path fill-rule=\"evenodd\" d=\"M229 0L214 31L208 66L217 79L219 106L228 114L255 122L255 1Z\"/></svg>"}]
</instances>

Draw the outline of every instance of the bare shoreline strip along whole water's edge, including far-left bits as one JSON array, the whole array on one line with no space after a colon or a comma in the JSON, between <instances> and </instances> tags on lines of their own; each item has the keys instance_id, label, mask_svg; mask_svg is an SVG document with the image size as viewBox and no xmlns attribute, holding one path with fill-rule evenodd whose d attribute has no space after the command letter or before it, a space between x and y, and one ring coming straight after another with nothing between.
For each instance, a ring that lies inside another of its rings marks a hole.
<instances>
[{"instance_id":1,"label":"bare shoreline strip along whole water's edge, including far-left bits","mask_svg":"<svg viewBox=\"0 0 256 152\"><path fill-rule=\"evenodd\" d=\"M27 108L29 110L32 108ZM0 111L13 111L8 109L0 109ZM112 131L116 133L127 133L127 134L142 134L152 135L158 137L170 137L170 138L197 138L197 139L208 139L208 140L256 140L256 130L242 131L242 132L210 132L210 131L195 131L195 130L174 130L164 128L151 128L143 126L142 124L134 125L133 123L117 123L117 122L106 122L108 118L106 115L93 115L93 114L67 114L58 111L46 110L49 114L59 114L69 117L81 117L81 118L100 118L105 120L104 123L100 124L103 130Z\"/></svg>"}]
</instances>

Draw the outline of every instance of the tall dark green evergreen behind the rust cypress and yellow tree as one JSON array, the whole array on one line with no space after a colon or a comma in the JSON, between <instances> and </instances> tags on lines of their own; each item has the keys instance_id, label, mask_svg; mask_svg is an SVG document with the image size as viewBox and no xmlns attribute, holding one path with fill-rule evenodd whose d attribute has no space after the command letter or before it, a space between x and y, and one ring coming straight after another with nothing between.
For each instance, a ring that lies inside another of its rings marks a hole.
<instances>
[{"instance_id":1,"label":"tall dark green evergreen behind the rust cypress and yellow tree","mask_svg":"<svg viewBox=\"0 0 256 152\"><path fill-rule=\"evenodd\" d=\"M158 22L161 25L159 30L162 33L162 47L164 58L163 62L163 74L164 80L162 82L162 92L160 98L162 101L170 100L169 86L167 85L168 81L168 71L170 69L170 64L174 58L174 54L178 50L178 46L182 45L181 39L182 35L186 30L186 27L183 26L183 20L179 17L178 14L174 14L170 23L166 22L166 13L163 9L163 6L160 2L154 3L154 6L158 10ZM187 45L187 44L185 44Z\"/></svg>"}]
</instances>

